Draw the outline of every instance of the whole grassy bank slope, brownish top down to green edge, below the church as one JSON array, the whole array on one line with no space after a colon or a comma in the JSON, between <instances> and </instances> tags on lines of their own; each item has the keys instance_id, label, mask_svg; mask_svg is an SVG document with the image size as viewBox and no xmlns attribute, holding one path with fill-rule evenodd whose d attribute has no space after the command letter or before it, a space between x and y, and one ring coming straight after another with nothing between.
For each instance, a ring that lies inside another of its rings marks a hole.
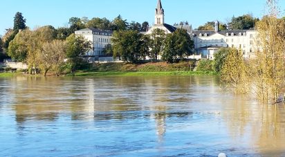
<instances>
[{"instance_id":1,"label":"whole grassy bank slope, brownish top down to green edge, below the church","mask_svg":"<svg viewBox=\"0 0 285 157\"><path fill-rule=\"evenodd\" d=\"M217 75L213 71L193 71L194 62L167 64L166 62L146 64L108 63L94 64L89 71L77 71L71 76L100 75Z\"/></svg>"}]
</instances>

